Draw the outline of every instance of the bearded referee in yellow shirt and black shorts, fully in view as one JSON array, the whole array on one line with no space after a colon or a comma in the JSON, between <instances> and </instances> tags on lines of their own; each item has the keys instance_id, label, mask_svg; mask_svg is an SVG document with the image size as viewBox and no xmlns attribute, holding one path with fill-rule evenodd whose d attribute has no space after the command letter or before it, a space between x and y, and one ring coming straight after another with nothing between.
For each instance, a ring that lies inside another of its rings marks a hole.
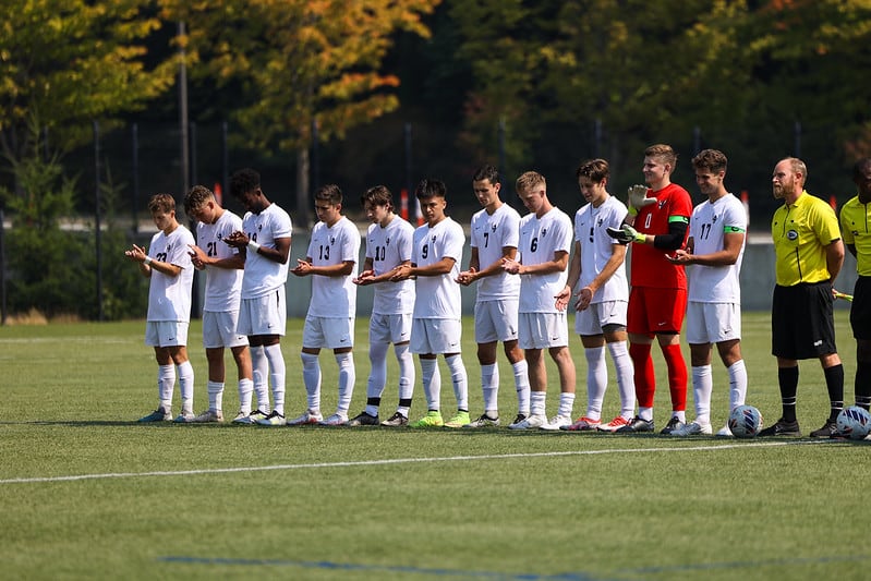
<instances>
[{"instance_id":1,"label":"bearded referee in yellow shirt and black shorts, fully in view","mask_svg":"<svg viewBox=\"0 0 871 581\"><path fill-rule=\"evenodd\" d=\"M777 358L783 416L760 436L800 436L796 417L798 360L818 358L823 366L828 419L811 437L836 433L844 408L844 366L835 347L832 285L844 264L837 216L832 207L805 191L808 169L794 157L774 167L772 190L784 205L774 213L771 233L776 255L772 301L772 354Z\"/></svg>"}]
</instances>

